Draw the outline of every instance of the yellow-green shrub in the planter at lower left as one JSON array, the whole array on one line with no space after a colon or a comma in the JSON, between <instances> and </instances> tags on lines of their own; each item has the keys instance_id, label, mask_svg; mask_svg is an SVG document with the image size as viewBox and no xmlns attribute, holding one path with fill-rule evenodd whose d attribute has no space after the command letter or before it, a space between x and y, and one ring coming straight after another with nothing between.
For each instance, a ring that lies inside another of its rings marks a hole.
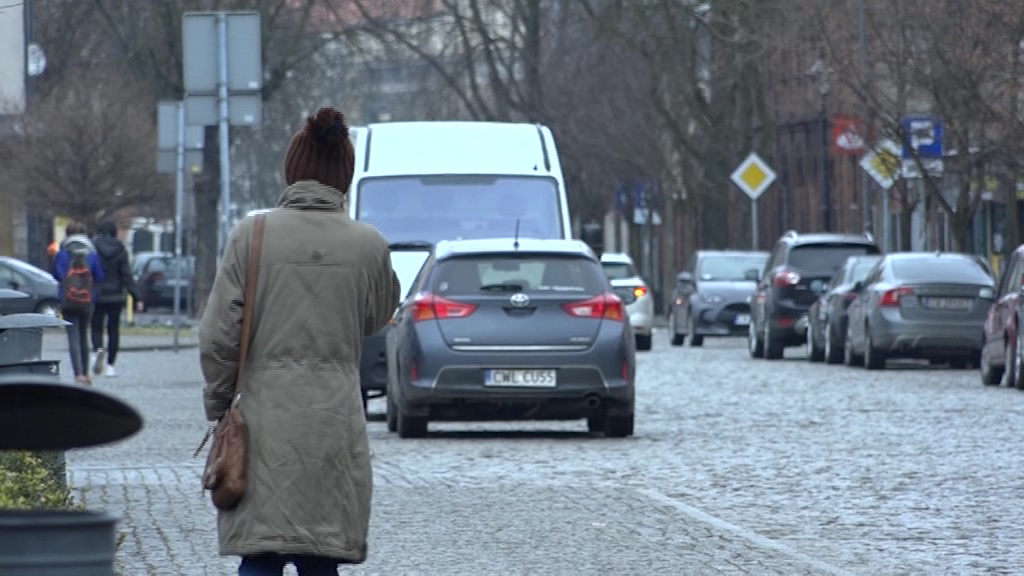
<instances>
[{"instance_id":1,"label":"yellow-green shrub in the planter at lower left","mask_svg":"<svg viewBox=\"0 0 1024 576\"><path fill-rule=\"evenodd\" d=\"M31 452L0 452L0 508L83 509L52 465Z\"/></svg>"}]
</instances>

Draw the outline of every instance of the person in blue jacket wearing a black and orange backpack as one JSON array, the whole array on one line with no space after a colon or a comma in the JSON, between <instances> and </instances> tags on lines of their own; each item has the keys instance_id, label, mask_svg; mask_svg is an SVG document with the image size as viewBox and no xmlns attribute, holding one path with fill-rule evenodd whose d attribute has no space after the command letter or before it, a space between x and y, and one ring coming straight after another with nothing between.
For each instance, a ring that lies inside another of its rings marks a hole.
<instances>
[{"instance_id":1,"label":"person in blue jacket wearing a black and orange backpack","mask_svg":"<svg viewBox=\"0 0 1024 576\"><path fill-rule=\"evenodd\" d=\"M53 261L54 277L60 283L60 317L70 322L68 348L75 381L89 385L89 323L96 303L96 284L103 281L103 266L85 224L71 222Z\"/></svg>"}]
</instances>

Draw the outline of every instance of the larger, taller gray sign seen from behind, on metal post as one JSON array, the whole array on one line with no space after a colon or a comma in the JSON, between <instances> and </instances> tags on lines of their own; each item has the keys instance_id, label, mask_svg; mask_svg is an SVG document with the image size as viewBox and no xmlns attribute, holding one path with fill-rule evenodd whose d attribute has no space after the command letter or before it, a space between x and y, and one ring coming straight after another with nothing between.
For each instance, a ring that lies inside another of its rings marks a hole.
<instances>
[{"instance_id":1,"label":"larger, taller gray sign seen from behind, on metal post","mask_svg":"<svg viewBox=\"0 0 1024 576\"><path fill-rule=\"evenodd\" d=\"M220 229L223 253L231 221L228 126L263 121L262 35L259 12L185 12L181 22L184 111L188 126L218 126Z\"/></svg>"}]
</instances>

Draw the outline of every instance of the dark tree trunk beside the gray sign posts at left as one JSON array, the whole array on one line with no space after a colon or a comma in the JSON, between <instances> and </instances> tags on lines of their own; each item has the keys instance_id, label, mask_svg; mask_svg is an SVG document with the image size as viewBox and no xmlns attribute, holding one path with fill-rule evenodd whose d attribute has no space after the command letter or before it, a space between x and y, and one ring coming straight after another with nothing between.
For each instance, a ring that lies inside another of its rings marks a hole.
<instances>
[{"instance_id":1,"label":"dark tree trunk beside the gray sign posts at left","mask_svg":"<svg viewBox=\"0 0 1024 576\"><path fill-rule=\"evenodd\" d=\"M206 300L217 276L217 229L220 215L219 129L206 127L203 175L196 179L196 301L198 318L206 312Z\"/></svg>"}]
</instances>

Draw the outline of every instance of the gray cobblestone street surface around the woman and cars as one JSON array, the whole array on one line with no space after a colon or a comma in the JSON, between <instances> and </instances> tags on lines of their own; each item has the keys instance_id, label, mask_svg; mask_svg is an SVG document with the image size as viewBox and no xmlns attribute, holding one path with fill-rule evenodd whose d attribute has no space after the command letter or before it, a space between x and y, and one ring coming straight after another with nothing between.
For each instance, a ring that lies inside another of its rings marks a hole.
<instances>
[{"instance_id":1,"label":"gray cobblestone street surface around the woman and cars","mask_svg":"<svg viewBox=\"0 0 1024 576\"><path fill-rule=\"evenodd\" d=\"M583 421L431 423L427 439L399 440L373 401L370 561L341 573L1019 572L1024 395L974 370L868 372L793 348L769 363L744 346L675 348L657 334L638 355L625 440ZM197 356L126 352L120 376L94 385L145 428L69 455L86 504L122 516L128 575L236 571L217 557L191 458L205 429Z\"/></svg>"}]
</instances>

